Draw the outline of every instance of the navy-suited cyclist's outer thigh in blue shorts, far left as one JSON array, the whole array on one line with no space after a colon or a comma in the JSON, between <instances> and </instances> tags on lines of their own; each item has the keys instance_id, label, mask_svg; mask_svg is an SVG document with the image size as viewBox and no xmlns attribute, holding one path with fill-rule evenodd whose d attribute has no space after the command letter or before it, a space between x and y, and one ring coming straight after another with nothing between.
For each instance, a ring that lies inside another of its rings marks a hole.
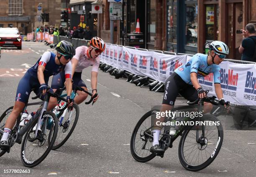
<instances>
[{"instance_id":1,"label":"navy-suited cyclist's outer thigh in blue shorts, far left","mask_svg":"<svg viewBox=\"0 0 256 177\"><path fill-rule=\"evenodd\" d=\"M34 79L32 78L32 76L28 72L26 72L26 74L21 78L18 84L15 101L23 103L28 102L28 98L32 90L31 85L33 83L33 80Z\"/></svg>"}]
</instances>

